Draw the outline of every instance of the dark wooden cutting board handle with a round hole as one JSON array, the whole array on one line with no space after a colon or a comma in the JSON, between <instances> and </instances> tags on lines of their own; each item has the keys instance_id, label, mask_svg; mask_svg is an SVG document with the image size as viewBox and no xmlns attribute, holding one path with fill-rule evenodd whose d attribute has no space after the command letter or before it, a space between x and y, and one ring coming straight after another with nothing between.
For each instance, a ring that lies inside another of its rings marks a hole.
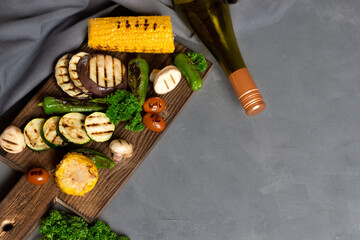
<instances>
[{"instance_id":1,"label":"dark wooden cutting board handle with a round hole","mask_svg":"<svg viewBox=\"0 0 360 240\"><path fill-rule=\"evenodd\" d=\"M57 187L50 180L42 186L32 185L26 176L0 203L0 239L27 239L41 217L55 204Z\"/></svg>"}]
</instances>

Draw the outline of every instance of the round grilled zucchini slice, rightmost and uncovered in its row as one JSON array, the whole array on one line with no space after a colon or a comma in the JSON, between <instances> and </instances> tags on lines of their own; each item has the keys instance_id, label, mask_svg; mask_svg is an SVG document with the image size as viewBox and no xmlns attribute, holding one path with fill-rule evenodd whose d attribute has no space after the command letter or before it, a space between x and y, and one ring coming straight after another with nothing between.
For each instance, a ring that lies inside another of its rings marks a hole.
<instances>
[{"instance_id":1,"label":"round grilled zucchini slice, rightmost and uncovered in its row","mask_svg":"<svg viewBox=\"0 0 360 240\"><path fill-rule=\"evenodd\" d=\"M91 140L105 142L111 138L115 125L103 112L94 112L85 119L85 130Z\"/></svg>"}]
</instances>

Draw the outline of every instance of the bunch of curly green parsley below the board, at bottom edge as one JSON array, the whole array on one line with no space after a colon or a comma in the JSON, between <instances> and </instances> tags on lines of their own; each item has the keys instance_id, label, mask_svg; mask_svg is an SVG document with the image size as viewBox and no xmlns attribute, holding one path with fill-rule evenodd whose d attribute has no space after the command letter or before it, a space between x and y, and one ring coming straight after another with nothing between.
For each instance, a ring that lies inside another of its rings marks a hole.
<instances>
[{"instance_id":1,"label":"bunch of curly green parsley below the board, at bottom edge","mask_svg":"<svg viewBox=\"0 0 360 240\"><path fill-rule=\"evenodd\" d=\"M83 218L59 210L51 210L41 221L40 233L44 235L42 240L130 240L117 235L101 220L89 227Z\"/></svg>"}]
</instances>

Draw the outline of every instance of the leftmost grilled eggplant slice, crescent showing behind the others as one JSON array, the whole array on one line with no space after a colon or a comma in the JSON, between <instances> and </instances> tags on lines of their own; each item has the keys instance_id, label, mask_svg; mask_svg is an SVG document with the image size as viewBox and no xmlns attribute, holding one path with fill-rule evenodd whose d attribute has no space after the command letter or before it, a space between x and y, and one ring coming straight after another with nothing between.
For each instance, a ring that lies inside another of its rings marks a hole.
<instances>
[{"instance_id":1,"label":"leftmost grilled eggplant slice, crescent showing behind the others","mask_svg":"<svg viewBox=\"0 0 360 240\"><path fill-rule=\"evenodd\" d=\"M55 66L56 83L70 97L87 98L88 95L84 94L70 80L69 72L68 72L69 59L70 59L70 54L65 54L57 61Z\"/></svg>"}]
</instances>

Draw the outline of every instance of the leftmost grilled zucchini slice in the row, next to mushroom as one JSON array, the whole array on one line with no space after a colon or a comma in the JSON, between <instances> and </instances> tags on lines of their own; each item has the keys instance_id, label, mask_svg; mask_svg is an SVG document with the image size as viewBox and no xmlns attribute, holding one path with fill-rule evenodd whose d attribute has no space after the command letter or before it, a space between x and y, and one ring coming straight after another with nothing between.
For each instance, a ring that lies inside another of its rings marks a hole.
<instances>
[{"instance_id":1,"label":"leftmost grilled zucchini slice in the row, next to mushroom","mask_svg":"<svg viewBox=\"0 0 360 240\"><path fill-rule=\"evenodd\" d=\"M45 151L50 147L41 137L41 128L45 123L45 118L34 118L24 128L26 146L33 151Z\"/></svg>"}]
</instances>

